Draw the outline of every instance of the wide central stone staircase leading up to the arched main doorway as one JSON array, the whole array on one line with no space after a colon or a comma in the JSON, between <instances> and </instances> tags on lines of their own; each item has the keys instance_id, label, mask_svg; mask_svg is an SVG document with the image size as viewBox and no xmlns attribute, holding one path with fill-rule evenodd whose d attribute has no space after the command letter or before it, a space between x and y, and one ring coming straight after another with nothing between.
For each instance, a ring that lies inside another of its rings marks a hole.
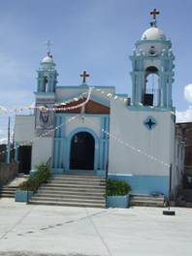
<instances>
[{"instance_id":1,"label":"wide central stone staircase leading up to the arched main doorway","mask_svg":"<svg viewBox=\"0 0 192 256\"><path fill-rule=\"evenodd\" d=\"M93 175L51 176L29 204L106 208L106 180Z\"/></svg>"}]
</instances>

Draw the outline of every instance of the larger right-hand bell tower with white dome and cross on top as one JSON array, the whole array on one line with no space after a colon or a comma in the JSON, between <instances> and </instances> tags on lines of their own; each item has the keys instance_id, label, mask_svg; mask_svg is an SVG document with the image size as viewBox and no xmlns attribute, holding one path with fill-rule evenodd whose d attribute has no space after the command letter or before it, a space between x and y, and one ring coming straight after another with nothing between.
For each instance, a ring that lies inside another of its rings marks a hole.
<instances>
[{"instance_id":1,"label":"larger right-hand bell tower with white dome and cross on top","mask_svg":"<svg viewBox=\"0 0 192 256\"><path fill-rule=\"evenodd\" d=\"M172 109L172 84L174 82L174 59L172 43L157 26L154 9L150 15L150 27L142 39L136 42L132 61L132 105Z\"/></svg>"}]
</instances>

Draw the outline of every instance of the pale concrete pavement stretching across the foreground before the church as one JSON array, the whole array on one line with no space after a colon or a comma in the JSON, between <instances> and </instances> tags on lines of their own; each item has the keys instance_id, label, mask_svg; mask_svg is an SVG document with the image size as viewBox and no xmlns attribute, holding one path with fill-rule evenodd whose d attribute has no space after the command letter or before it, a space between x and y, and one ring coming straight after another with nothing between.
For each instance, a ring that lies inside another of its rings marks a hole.
<instances>
[{"instance_id":1,"label":"pale concrete pavement stretching across the foreground before the church","mask_svg":"<svg viewBox=\"0 0 192 256\"><path fill-rule=\"evenodd\" d=\"M192 209L63 208L0 200L0 255L188 256Z\"/></svg>"}]
</instances>

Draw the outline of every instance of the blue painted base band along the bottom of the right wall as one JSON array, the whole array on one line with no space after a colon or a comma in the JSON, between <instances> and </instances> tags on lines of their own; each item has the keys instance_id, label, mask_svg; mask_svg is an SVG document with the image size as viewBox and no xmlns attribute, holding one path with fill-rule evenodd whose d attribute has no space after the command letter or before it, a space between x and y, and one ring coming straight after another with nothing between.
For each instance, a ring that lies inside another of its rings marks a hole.
<instances>
[{"instance_id":1,"label":"blue painted base band along the bottom of the right wall","mask_svg":"<svg viewBox=\"0 0 192 256\"><path fill-rule=\"evenodd\" d=\"M109 174L110 179L124 180L129 183L131 194L151 194L153 192L169 195L169 176L126 176Z\"/></svg>"}]
</instances>

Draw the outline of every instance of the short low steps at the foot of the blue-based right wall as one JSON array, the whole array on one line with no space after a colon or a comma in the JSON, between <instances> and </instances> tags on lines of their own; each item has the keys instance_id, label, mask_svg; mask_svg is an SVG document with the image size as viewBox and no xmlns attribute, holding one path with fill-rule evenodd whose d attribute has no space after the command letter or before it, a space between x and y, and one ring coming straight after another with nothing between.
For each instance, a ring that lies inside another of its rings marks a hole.
<instances>
[{"instance_id":1,"label":"short low steps at the foot of the blue-based right wall","mask_svg":"<svg viewBox=\"0 0 192 256\"><path fill-rule=\"evenodd\" d=\"M163 208L164 196L131 195L130 207Z\"/></svg>"}]
</instances>

